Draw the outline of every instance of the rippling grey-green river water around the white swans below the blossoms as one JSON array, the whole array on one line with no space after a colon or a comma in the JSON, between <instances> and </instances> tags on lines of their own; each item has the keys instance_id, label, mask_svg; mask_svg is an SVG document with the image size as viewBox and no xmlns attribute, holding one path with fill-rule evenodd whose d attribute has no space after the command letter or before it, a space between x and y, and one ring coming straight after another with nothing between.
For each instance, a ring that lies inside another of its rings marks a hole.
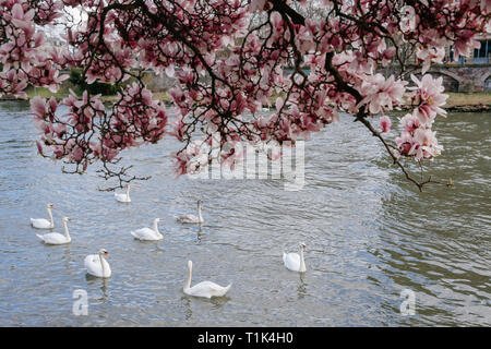
<instances>
[{"instance_id":1,"label":"rippling grey-green river water around the white swans below the blossoms","mask_svg":"<svg viewBox=\"0 0 491 349\"><path fill-rule=\"evenodd\" d=\"M153 176L132 185L131 204L98 191L94 171L63 174L38 156L27 113L27 104L0 103L2 326L491 325L490 113L438 121L445 151L428 171L453 188L420 193L344 116L306 143L299 191L273 179L176 179L169 141L124 154L135 173ZM197 198L201 231L172 218L193 213ZM63 216L74 219L71 244L44 245L29 227L47 203L56 231ZM130 230L156 217L164 240L135 241ZM299 242L304 275L282 261ZM83 267L100 248L110 253L107 280ZM227 297L185 296L188 260L193 284L233 282ZM76 290L88 297L87 315L73 313ZM415 314L403 315L412 300Z\"/></svg>"}]
</instances>

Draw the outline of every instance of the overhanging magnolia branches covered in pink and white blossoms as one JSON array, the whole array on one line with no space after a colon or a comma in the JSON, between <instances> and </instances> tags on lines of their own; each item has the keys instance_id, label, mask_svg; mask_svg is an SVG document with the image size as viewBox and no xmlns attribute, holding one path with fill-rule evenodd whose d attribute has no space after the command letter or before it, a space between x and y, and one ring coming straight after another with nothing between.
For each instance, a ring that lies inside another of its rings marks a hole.
<instances>
[{"instance_id":1,"label":"overhanging magnolia branches covered in pink and white blossoms","mask_svg":"<svg viewBox=\"0 0 491 349\"><path fill-rule=\"evenodd\" d=\"M435 181L417 180L402 160L422 164L443 151L432 127L447 97L427 71L450 45L457 56L471 53L490 11L488 0L0 0L0 96L26 97L28 86L56 92L70 67L82 68L87 85L117 85L107 106L88 91L31 100L39 153L70 173L100 164L99 176L117 186L145 179L121 167L127 148L175 137L182 144L176 171L184 174L233 164L243 156L240 142L308 139L343 112L379 137L421 190ZM50 25L61 27L65 45L49 43ZM405 69L408 47L421 76ZM378 73L394 63L397 76ZM167 92L172 107L146 87L144 71L176 80ZM274 105L272 115L261 112L265 105ZM402 106L411 112L390 143L386 115Z\"/></svg>"}]
</instances>

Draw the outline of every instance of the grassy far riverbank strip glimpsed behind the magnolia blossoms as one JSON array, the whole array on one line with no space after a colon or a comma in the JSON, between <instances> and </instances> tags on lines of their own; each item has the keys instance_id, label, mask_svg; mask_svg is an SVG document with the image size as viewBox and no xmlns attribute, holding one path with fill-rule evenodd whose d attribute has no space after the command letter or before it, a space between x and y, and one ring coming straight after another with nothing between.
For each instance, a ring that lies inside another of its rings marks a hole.
<instances>
[{"instance_id":1,"label":"grassy far riverbank strip glimpsed behind the magnolia blossoms","mask_svg":"<svg viewBox=\"0 0 491 349\"><path fill-rule=\"evenodd\" d=\"M68 88L62 88L56 94L50 93L47 88L38 87L36 89L27 91L27 97L40 96L49 98L55 96L57 99L61 99L69 95ZM445 109L447 111L460 111L460 112L487 112L491 111L491 93L478 92L478 93L447 93L448 99L446 100ZM165 92L156 92L154 96L165 103L170 103L169 96ZM104 103L112 103L117 99L117 96L101 96L100 99ZM0 100L15 100L15 98L3 97ZM274 105L274 100L272 101Z\"/></svg>"}]
</instances>

